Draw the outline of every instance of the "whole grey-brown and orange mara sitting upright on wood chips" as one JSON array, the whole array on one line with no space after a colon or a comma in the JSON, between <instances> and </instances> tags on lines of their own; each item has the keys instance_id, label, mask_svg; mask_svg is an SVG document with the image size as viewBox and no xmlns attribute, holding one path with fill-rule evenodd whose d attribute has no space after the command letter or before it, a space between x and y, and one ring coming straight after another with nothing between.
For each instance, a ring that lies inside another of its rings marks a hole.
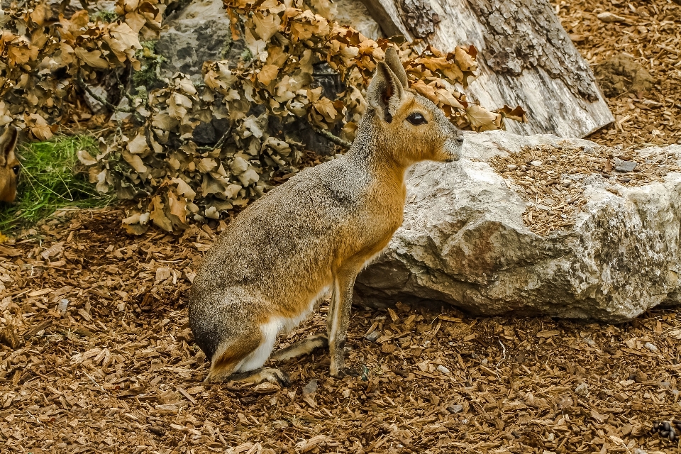
<instances>
[{"instance_id":1,"label":"whole grey-brown and orange mara sitting upright on wood chips","mask_svg":"<svg viewBox=\"0 0 681 454\"><path fill-rule=\"evenodd\" d=\"M255 201L206 255L189 299L196 343L212 361L206 380L274 380L260 367L277 334L294 328L325 292L331 375L343 374L355 276L402 224L406 170L422 160L456 160L463 144L443 112L406 87L392 49L377 67L367 104L348 153ZM427 123L414 125L414 114ZM291 351L321 343L301 345Z\"/></svg>"}]
</instances>

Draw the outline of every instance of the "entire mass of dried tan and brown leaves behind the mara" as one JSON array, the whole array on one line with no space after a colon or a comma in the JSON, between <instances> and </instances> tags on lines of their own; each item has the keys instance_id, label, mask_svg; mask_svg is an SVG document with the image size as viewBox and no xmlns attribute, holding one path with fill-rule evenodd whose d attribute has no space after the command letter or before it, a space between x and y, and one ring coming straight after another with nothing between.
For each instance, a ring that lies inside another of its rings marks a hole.
<instances>
[{"instance_id":1,"label":"entire mass of dried tan and brown leaves behind the mara","mask_svg":"<svg viewBox=\"0 0 681 454\"><path fill-rule=\"evenodd\" d=\"M164 6L156 1L118 0L118 16L110 23L86 11L67 19L43 4L14 5L0 41L8 62L0 66L6 96L0 124L14 118L36 138L48 138L56 128L52 122L77 109L74 87L96 96L91 85L102 72L138 70L140 40L154 38L160 28ZM125 110L134 117L124 133L102 141L95 157L79 154L99 191L114 188L120 199L145 200L124 221L132 233L143 233L151 223L182 231L192 220L218 219L294 175L304 153L296 134L299 118L326 137L333 139L331 131L340 135L337 143L352 141L376 62L387 46L397 46L339 26L328 0L227 1L226 9L233 38L243 37L246 55L205 62L199 86L175 74L150 93L135 87L137 95L125 94ZM485 131L501 128L504 118L524 119L520 108L490 112L455 89L474 75L472 46L416 52L403 44L399 53L411 87L461 128ZM340 75L343 92L314 88L314 67L322 64ZM222 137L202 147L194 135L205 123L218 125Z\"/></svg>"}]
</instances>

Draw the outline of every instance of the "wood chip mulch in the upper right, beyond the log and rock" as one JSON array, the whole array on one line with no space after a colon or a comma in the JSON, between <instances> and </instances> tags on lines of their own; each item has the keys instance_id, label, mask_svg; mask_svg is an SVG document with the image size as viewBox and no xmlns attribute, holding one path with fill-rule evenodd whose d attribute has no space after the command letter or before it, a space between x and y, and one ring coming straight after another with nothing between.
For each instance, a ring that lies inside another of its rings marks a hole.
<instances>
[{"instance_id":1,"label":"wood chip mulch in the upper right, beyond the log and rock","mask_svg":"<svg viewBox=\"0 0 681 454\"><path fill-rule=\"evenodd\" d=\"M608 146L681 143L681 1L552 3L602 87L614 81L598 67L616 56L631 57L652 78L652 87L644 90L629 87L636 81L624 74L625 89L607 99L614 125L589 139Z\"/></svg>"}]
</instances>

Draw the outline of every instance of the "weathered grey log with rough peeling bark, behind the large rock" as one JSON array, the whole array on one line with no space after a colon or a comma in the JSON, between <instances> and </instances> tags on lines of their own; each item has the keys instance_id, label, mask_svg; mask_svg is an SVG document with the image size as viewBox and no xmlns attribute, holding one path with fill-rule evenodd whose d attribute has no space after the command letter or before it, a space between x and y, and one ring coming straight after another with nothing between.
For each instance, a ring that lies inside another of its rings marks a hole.
<instances>
[{"instance_id":1,"label":"weathered grey log with rough peeling bark, behind the large rock","mask_svg":"<svg viewBox=\"0 0 681 454\"><path fill-rule=\"evenodd\" d=\"M362 1L386 35L475 45L478 77L465 93L487 109L522 106L528 122L506 122L511 132L584 137L614 121L548 0Z\"/></svg>"}]
</instances>

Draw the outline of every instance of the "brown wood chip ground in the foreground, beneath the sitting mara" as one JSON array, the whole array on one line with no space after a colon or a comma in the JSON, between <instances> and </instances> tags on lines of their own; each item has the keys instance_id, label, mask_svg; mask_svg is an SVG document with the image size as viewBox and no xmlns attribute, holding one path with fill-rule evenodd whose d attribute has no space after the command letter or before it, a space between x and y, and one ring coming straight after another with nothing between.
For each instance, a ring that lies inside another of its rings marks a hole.
<instances>
[{"instance_id":1,"label":"brown wood chip ground in the foreground, beneath the sitting mara","mask_svg":"<svg viewBox=\"0 0 681 454\"><path fill-rule=\"evenodd\" d=\"M650 435L652 421L680 412L672 311L612 326L354 308L348 362L364 377L330 378L319 352L279 365L289 388L206 384L186 292L216 233L135 237L121 215L61 212L0 246L7 450L680 452ZM325 311L281 345L323 331Z\"/></svg>"}]
</instances>

